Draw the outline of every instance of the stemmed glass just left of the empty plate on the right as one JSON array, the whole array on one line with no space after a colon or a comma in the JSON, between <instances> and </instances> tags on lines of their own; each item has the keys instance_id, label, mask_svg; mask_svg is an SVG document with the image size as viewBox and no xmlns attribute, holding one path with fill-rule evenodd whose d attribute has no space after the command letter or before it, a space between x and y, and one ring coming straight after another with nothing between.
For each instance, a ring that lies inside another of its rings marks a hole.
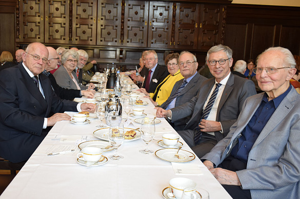
<instances>
[{"instance_id":1,"label":"stemmed glass just left of the empty plate on the right","mask_svg":"<svg viewBox=\"0 0 300 199\"><path fill-rule=\"evenodd\" d=\"M139 150L139 152L141 152L143 154L152 154L153 151L148 150L148 144L154 138L154 134L155 134L154 120L151 120L149 118L144 118L142 120L140 132L141 132L141 138L146 143L146 148L145 148L145 150Z\"/></svg>"}]
</instances>

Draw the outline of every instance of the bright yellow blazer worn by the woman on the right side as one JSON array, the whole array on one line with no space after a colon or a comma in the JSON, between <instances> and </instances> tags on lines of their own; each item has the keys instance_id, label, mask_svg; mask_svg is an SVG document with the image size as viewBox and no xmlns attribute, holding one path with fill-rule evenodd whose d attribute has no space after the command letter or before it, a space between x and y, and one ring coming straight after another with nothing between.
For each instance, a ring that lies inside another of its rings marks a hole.
<instances>
[{"instance_id":1,"label":"bright yellow blazer worn by the woman on the right side","mask_svg":"<svg viewBox=\"0 0 300 199\"><path fill-rule=\"evenodd\" d=\"M184 77L181 75L180 70L178 70L173 76L168 75L162 83L158 84L154 93L150 93L150 97L153 99L155 94L157 93L157 97L155 102L159 105L162 105L170 96L171 91L173 89L176 81L183 79ZM157 89L159 90L157 91Z\"/></svg>"}]
</instances>

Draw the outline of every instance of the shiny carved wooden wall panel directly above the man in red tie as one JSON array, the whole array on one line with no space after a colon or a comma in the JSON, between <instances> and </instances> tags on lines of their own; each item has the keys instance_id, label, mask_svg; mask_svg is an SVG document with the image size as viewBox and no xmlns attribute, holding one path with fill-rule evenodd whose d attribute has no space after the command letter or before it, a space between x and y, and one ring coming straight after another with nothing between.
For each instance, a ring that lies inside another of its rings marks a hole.
<instances>
[{"instance_id":1,"label":"shiny carved wooden wall panel directly above the man in red tie","mask_svg":"<svg viewBox=\"0 0 300 199\"><path fill-rule=\"evenodd\" d=\"M148 47L169 48L171 42L172 9L170 2L149 2Z\"/></svg>"}]
</instances>

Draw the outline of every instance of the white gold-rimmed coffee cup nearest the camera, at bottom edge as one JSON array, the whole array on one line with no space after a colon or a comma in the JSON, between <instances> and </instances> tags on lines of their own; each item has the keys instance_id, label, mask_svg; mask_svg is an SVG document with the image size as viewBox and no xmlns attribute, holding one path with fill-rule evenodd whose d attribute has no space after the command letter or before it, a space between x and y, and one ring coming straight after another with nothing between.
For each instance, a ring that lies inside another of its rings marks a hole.
<instances>
[{"instance_id":1,"label":"white gold-rimmed coffee cup nearest the camera, at bottom edge","mask_svg":"<svg viewBox=\"0 0 300 199\"><path fill-rule=\"evenodd\" d=\"M196 190L197 184L188 178L173 178L169 181L170 191L176 197L176 199L181 199L183 190L188 187L194 187Z\"/></svg>"}]
</instances>

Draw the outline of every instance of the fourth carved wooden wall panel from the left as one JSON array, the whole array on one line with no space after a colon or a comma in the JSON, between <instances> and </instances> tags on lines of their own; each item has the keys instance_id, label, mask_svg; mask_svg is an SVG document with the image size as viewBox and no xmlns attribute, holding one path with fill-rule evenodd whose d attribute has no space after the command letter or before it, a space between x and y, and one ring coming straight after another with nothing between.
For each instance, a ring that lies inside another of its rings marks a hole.
<instances>
[{"instance_id":1,"label":"fourth carved wooden wall panel from the left","mask_svg":"<svg viewBox=\"0 0 300 199\"><path fill-rule=\"evenodd\" d=\"M98 3L97 45L118 46L121 40L121 1Z\"/></svg>"}]
</instances>

